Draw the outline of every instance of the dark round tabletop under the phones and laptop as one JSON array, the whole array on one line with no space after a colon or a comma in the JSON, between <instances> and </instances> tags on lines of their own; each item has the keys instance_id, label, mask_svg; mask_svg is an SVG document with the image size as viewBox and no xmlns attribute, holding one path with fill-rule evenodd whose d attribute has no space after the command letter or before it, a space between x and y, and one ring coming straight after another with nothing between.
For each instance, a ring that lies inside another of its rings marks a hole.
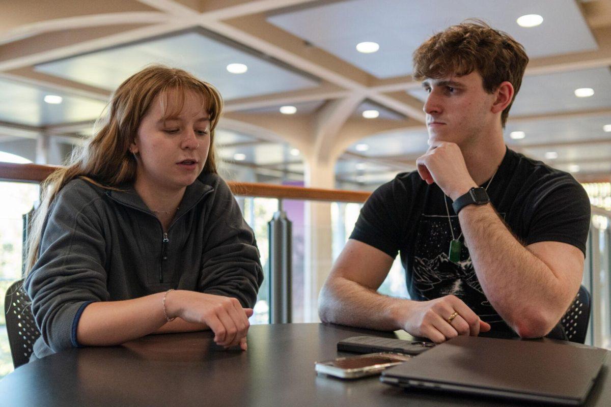
<instances>
[{"instance_id":1,"label":"dark round tabletop under the phones and laptop","mask_svg":"<svg viewBox=\"0 0 611 407\"><path fill-rule=\"evenodd\" d=\"M339 340L394 333L338 325L254 325L248 350L219 350L208 332L147 336L64 351L0 381L2 406L518 406L490 398L404 391L377 376L318 376L314 362L346 356ZM401 337L401 335L399 335ZM587 406L611 405L607 358Z\"/></svg>"}]
</instances>

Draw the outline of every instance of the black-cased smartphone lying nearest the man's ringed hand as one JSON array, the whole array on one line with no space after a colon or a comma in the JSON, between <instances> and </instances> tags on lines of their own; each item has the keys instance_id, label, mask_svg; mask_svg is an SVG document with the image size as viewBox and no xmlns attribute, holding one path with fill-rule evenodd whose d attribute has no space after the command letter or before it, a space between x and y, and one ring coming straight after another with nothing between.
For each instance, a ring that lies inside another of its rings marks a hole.
<instances>
[{"instance_id":1,"label":"black-cased smartphone lying nearest the man's ringed hand","mask_svg":"<svg viewBox=\"0 0 611 407\"><path fill-rule=\"evenodd\" d=\"M337 342L337 350L356 353L392 352L419 355L434 346L433 342L390 339L379 336L353 336Z\"/></svg>"}]
</instances>

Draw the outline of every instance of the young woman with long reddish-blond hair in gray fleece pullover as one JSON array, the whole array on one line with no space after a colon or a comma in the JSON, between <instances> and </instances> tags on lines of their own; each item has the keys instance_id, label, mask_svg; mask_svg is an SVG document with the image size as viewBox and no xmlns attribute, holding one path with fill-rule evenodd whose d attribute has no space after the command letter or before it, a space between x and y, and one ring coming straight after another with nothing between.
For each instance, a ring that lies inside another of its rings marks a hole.
<instances>
[{"instance_id":1,"label":"young woman with long reddish-blond hair in gray fleece pullover","mask_svg":"<svg viewBox=\"0 0 611 407\"><path fill-rule=\"evenodd\" d=\"M216 173L221 109L210 84L145 68L119 86L82 153L45 181L24 282L42 333L34 357L205 329L246 350L263 273Z\"/></svg>"}]
</instances>

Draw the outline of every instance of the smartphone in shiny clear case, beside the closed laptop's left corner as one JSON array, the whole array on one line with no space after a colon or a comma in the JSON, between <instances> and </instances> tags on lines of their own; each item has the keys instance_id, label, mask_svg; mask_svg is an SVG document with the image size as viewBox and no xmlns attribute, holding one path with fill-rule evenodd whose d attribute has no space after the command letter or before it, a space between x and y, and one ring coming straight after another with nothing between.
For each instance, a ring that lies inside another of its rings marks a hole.
<instances>
[{"instance_id":1,"label":"smartphone in shiny clear case, beside the closed laptop's left corner","mask_svg":"<svg viewBox=\"0 0 611 407\"><path fill-rule=\"evenodd\" d=\"M348 356L332 361L316 362L316 373L342 379L356 379L377 375L390 366L408 361L411 356L398 353L370 353L368 355Z\"/></svg>"}]
</instances>

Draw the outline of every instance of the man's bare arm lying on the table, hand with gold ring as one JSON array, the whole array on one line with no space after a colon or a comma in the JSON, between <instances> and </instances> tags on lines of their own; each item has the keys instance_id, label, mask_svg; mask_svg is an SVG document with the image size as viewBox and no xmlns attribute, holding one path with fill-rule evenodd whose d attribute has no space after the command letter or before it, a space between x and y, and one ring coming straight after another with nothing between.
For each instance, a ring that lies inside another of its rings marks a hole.
<instances>
[{"instance_id":1,"label":"man's bare arm lying on the table, hand with gold ring","mask_svg":"<svg viewBox=\"0 0 611 407\"><path fill-rule=\"evenodd\" d=\"M357 240L348 240L321 290L320 319L376 330L403 329L434 342L444 342L458 335L477 336L480 330L490 329L453 295L431 301L411 301L376 292L392 262L383 251ZM448 321L453 312L460 316Z\"/></svg>"}]
</instances>

